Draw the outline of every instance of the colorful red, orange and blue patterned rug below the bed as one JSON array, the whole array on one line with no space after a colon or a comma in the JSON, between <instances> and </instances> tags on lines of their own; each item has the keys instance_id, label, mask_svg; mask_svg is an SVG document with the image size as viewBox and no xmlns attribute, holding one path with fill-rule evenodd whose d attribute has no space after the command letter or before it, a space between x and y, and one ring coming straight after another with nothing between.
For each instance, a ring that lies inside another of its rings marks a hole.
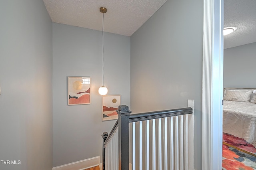
<instances>
[{"instance_id":1,"label":"colorful red, orange and blue patterned rug below the bed","mask_svg":"<svg viewBox=\"0 0 256 170\"><path fill-rule=\"evenodd\" d=\"M222 170L256 170L255 151L245 140L223 133Z\"/></svg>"}]
</instances>

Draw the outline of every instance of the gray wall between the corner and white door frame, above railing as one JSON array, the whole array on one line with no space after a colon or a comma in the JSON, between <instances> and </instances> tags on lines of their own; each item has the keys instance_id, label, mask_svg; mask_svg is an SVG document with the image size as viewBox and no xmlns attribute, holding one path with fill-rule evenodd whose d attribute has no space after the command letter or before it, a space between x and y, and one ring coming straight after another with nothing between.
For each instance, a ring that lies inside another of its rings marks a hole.
<instances>
[{"instance_id":1,"label":"gray wall between the corner and white door frame, above railing","mask_svg":"<svg viewBox=\"0 0 256 170\"><path fill-rule=\"evenodd\" d=\"M195 104L195 169L202 168L203 1L168 0L131 36L133 113Z\"/></svg>"}]
</instances>

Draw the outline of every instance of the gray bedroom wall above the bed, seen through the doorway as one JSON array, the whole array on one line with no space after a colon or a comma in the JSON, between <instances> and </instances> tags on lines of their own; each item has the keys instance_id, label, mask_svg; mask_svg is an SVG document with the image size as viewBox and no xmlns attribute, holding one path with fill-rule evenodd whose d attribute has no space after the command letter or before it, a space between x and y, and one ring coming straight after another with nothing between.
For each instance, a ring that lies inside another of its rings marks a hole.
<instances>
[{"instance_id":1,"label":"gray bedroom wall above the bed, seen through the doorway","mask_svg":"<svg viewBox=\"0 0 256 170\"><path fill-rule=\"evenodd\" d=\"M224 49L223 87L256 87L256 42Z\"/></svg>"}]
</instances>

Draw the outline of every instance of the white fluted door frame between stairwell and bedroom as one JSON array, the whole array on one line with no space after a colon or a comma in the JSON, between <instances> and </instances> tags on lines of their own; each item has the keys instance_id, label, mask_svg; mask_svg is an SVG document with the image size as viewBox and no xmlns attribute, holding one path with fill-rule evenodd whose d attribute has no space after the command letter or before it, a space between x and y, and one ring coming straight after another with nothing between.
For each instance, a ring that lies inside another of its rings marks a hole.
<instances>
[{"instance_id":1,"label":"white fluted door frame between stairwell and bedroom","mask_svg":"<svg viewBox=\"0 0 256 170\"><path fill-rule=\"evenodd\" d=\"M223 0L204 0L202 169L222 169Z\"/></svg>"}]
</instances>

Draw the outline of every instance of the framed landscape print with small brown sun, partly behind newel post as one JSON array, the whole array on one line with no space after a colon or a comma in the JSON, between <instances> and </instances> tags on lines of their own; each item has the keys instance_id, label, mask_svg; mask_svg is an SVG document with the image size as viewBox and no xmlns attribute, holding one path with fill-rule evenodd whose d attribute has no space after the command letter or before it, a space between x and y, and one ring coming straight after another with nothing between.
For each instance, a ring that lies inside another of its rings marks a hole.
<instances>
[{"instance_id":1,"label":"framed landscape print with small brown sun, partly behind newel post","mask_svg":"<svg viewBox=\"0 0 256 170\"><path fill-rule=\"evenodd\" d=\"M120 105L120 95L102 96L102 121L118 119L118 106Z\"/></svg>"}]
</instances>

